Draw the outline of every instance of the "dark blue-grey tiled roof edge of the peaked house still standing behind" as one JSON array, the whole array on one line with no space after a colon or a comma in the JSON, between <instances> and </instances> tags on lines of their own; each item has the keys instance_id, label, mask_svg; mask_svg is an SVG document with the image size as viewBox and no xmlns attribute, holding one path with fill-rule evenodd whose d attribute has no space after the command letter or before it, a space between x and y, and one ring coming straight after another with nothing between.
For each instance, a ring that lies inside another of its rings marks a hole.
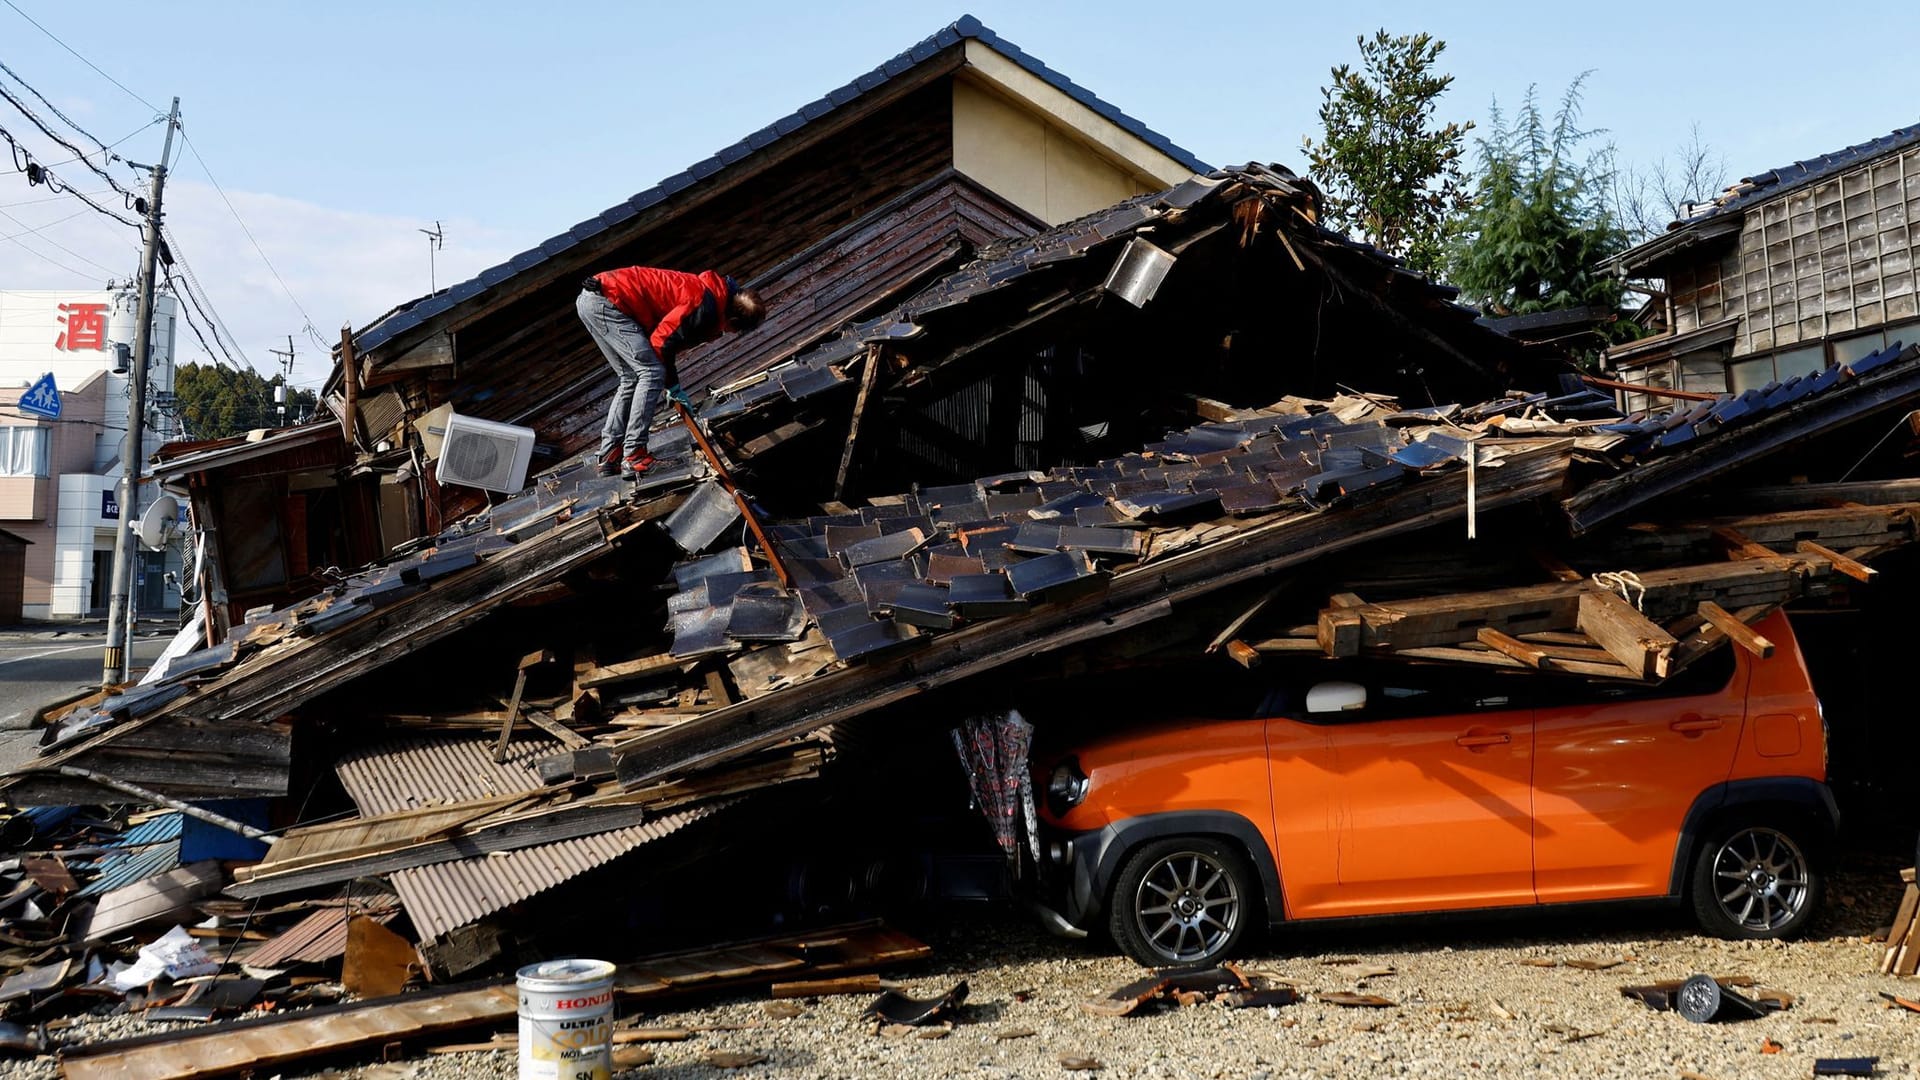
<instances>
[{"instance_id":1,"label":"dark blue-grey tiled roof edge of the peaked house still standing behind","mask_svg":"<svg viewBox=\"0 0 1920 1080\"><path fill-rule=\"evenodd\" d=\"M781 138L785 138L785 136L789 136L789 135L804 129L808 123L812 123L812 121L816 121L820 117L826 117L826 115L833 113L835 110L843 110L843 108L851 106L852 102L856 102L856 100L872 94L879 86L883 86L883 85L887 85L887 83L891 83L891 81L895 81L895 79L899 79L902 75L912 73L922 63L933 60L935 56L939 56L941 52L945 52L945 50L948 50L948 48L952 48L956 44L962 44L968 38L979 40L981 44L991 46L995 52L1006 56L1008 60L1012 60L1020 67L1027 69L1035 77L1039 77L1044 83L1048 83L1050 86L1062 90L1064 94L1068 94L1075 102L1087 106L1089 110L1092 110L1100 117L1104 117L1110 123L1117 125L1121 131L1125 131L1125 133L1133 135L1135 138L1146 142L1154 150L1160 150L1167 158L1173 158L1183 167L1192 169L1196 173L1204 173L1208 169L1206 161L1202 161L1202 160L1194 158L1192 154L1188 154L1187 150L1175 146L1167 136L1152 131L1144 123L1133 119L1131 115L1123 113L1121 110L1114 108L1112 104L1100 100L1096 94L1092 94L1085 86L1075 85L1071 79L1068 79L1066 75L1062 75L1062 73L1054 71L1052 67L1041 63L1033 56L1027 56L1020 46L1016 46L1014 42L1010 42L1010 40L1002 38L1000 35L993 33L991 29L987 29L985 25L981 25L981 21L975 19L973 15L962 15L952 25L943 27L933 37L922 40L920 44L916 44L914 48L902 52L900 56L895 56L887 63L881 63L879 67L868 71L866 75L854 79L852 83L847 83L845 86L828 92L818 102L810 102L806 106L801 106L795 113L791 113L787 117L781 117L781 119L776 119L774 123L762 127L760 131L749 135L747 138L741 138L739 142L735 142L735 144L720 150L712 158L707 158L705 161L699 161L699 163L695 163L693 167L689 167L689 169L685 169L682 173L674 173L672 177L660 181L659 184L655 184L655 186L651 186L651 188L636 194L634 198L626 200L624 204L620 204L620 206L616 206L612 209L607 209L605 213L599 213L595 217L589 217L589 219L582 221L580 225L574 225L566 233L561 233L561 234L545 240L538 248L530 248L526 252L520 252L518 256L507 259L505 263L501 263L497 267L480 271L480 275L476 275L470 281L463 281L463 282L447 288L445 292L436 292L434 296L417 300L417 302L405 306L403 309L394 311L392 315L380 319L372 327L367 327L365 331L361 331L357 334L357 338L355 338L355 348L361 354L367 354L367 352L372 352L372 350L380 348L382 344L386 344L394 336L397 336L397 334L401 334L405 331L411 331L411 329L426 323L434 315L440 315L440 313L444 313L444 311L447 311L451 307L461 306L467 300L472 300L474 296L480 296L482 292L488 292L490 288L495 288L495 286L499 286L499 284L503 284L507 281L513 281L515 277L526 273L528 269L532 269L532 267L536 267L540 263L545 263L547 259L551 259L551 258L555 258L555 256L559 256L559 254L563 254L563 252L578 246L582 240L597 236L597 234L605 233L609 227L614 227L620 221L628 221L628 219L636 217L637 213L645 211L647 208L651 208L655 204L660 204L660 202L666 202L670 196L674 196L674 194L678 194L678 192L682 192L685 188L691 188L691 186L699 184L701 181L712 179L714 175L718 175L720 171L724 171L728 165L733 165L735 161L741 161L741 160L745 160L745 158L749 158L749 156L753 156L753 154L756 154L756 152L772 146L774 142L778 142L778 140L781 140Z\"/></svg>"}]
</instances>

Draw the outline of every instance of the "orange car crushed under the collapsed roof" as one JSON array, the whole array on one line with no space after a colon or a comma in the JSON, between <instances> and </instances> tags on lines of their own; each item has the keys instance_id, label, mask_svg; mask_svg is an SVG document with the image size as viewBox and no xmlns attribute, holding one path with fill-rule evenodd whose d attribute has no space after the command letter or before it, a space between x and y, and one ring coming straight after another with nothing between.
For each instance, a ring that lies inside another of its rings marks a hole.
<instances>
[{"instance_id":1,"label":"orange car crushed under the collapsed roof","mask_svg":"<svg viewBox=\"0 0 1920 1080\"><path fill-rule=\"evenodd\" d=\"M1580 901L1686 901L1713 934L1789 936L1839 815L1793 630L1757 628L1768 659L1722 648L1657 686L1263 665L1250 719L1037 757L1050 911L1152 967L1219 961L1261 920Z\"/></svg>"}]
</instances>

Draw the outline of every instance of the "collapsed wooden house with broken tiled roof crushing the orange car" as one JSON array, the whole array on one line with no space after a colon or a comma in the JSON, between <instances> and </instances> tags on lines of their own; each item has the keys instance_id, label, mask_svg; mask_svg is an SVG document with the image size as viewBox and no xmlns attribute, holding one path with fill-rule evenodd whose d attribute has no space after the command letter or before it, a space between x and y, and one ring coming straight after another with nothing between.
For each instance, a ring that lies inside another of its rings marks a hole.
<instances>
[{"instance_id":1,"label":"collapsed wooden house with broken tiled roof crushing the orange car","mask_svg":"<svg viewBox=\"0 0 1920 1080\"><path fill-rule=\"evenodd\" d=\"M900 746L1023 694L1269 653L1672 678L1770 648L1751 625L1782 605L1853 605L1912 540L1905 442L1866 455L1882 479L1824 480L1907 423L1920 350L1622 417L1317 229L1311 198L1279 171L1223 171L991 248L707 396L753 500L676 427L639 484L561 463L54 717L44 755L0 786L15 803L298 796L227 892L384 878L455 974L493 955L476 928L582 874L616 867L637 894L636 859L705 872L703 851L787 836L808 780L912 801ZM1279 315L1223 321L1246 298L1208 296L1250 265ZM1281 334L1334 281L1348 300L1323 340L1365 357L1346 371ZM1208 340L1208 363L1165 363ZM1110 363L1162 382L1104 398L1094 425L1046 392L1068 357L1075 379ZM914 438L914 417L968 394L977 430ZM766 515L764 546L743 513ZM351 817L300 819L319 780Z\"/></svg>"}]
</instances>

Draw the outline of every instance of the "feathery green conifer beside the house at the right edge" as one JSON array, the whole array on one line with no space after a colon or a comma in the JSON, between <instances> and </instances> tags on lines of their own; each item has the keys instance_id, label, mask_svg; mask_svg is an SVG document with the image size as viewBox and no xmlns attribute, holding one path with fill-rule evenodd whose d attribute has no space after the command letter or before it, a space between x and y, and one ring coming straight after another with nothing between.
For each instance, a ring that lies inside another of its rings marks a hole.
<instances>
[{"instance_id":1,"label":"feathery green conifer beside the house at the right edge","mask_svg":"<svg viewBox=\"0 0 1920 1080\"><path fill-rule=\"evenodd\" d=\"M1582 154L1601 135L1578 127L1584 85L1580 75L1567 86L1551 119L1532 86L1511 123L1496 102L1492 133L1476 140L1473 209L1450 281L1496 315L1620 306L1620 281L1599 263L1624 252L1628 234L1609 208L1611 148ZM1617 319L1609 332L1630 334L1632 323Z\"/></svg>"}]
</instances>

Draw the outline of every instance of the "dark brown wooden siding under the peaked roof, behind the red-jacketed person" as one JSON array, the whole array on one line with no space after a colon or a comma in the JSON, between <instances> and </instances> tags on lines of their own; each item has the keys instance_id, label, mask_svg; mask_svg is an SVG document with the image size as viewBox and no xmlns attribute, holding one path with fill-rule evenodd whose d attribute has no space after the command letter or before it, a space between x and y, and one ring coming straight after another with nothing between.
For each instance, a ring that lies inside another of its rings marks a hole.
<instances>
[{"instance_id":1,"label":"dark brown wooden siding under the peaked roof, behind the red-jacketed person","mask_svg":"<svg viewBox=\"0 0 1920 1080\"><path fill-rule=\"evenodd\" d=\"M620 265L760 275L952 165L947 81L916 90L716 196L589 271ZM599 436L612 373L574 313L580 279L503 306L457 334L459 379L428 388L465 415L522 423L574 454ZM687 357L693 359L693 357Z\"/></svg>"}]
</instances>

